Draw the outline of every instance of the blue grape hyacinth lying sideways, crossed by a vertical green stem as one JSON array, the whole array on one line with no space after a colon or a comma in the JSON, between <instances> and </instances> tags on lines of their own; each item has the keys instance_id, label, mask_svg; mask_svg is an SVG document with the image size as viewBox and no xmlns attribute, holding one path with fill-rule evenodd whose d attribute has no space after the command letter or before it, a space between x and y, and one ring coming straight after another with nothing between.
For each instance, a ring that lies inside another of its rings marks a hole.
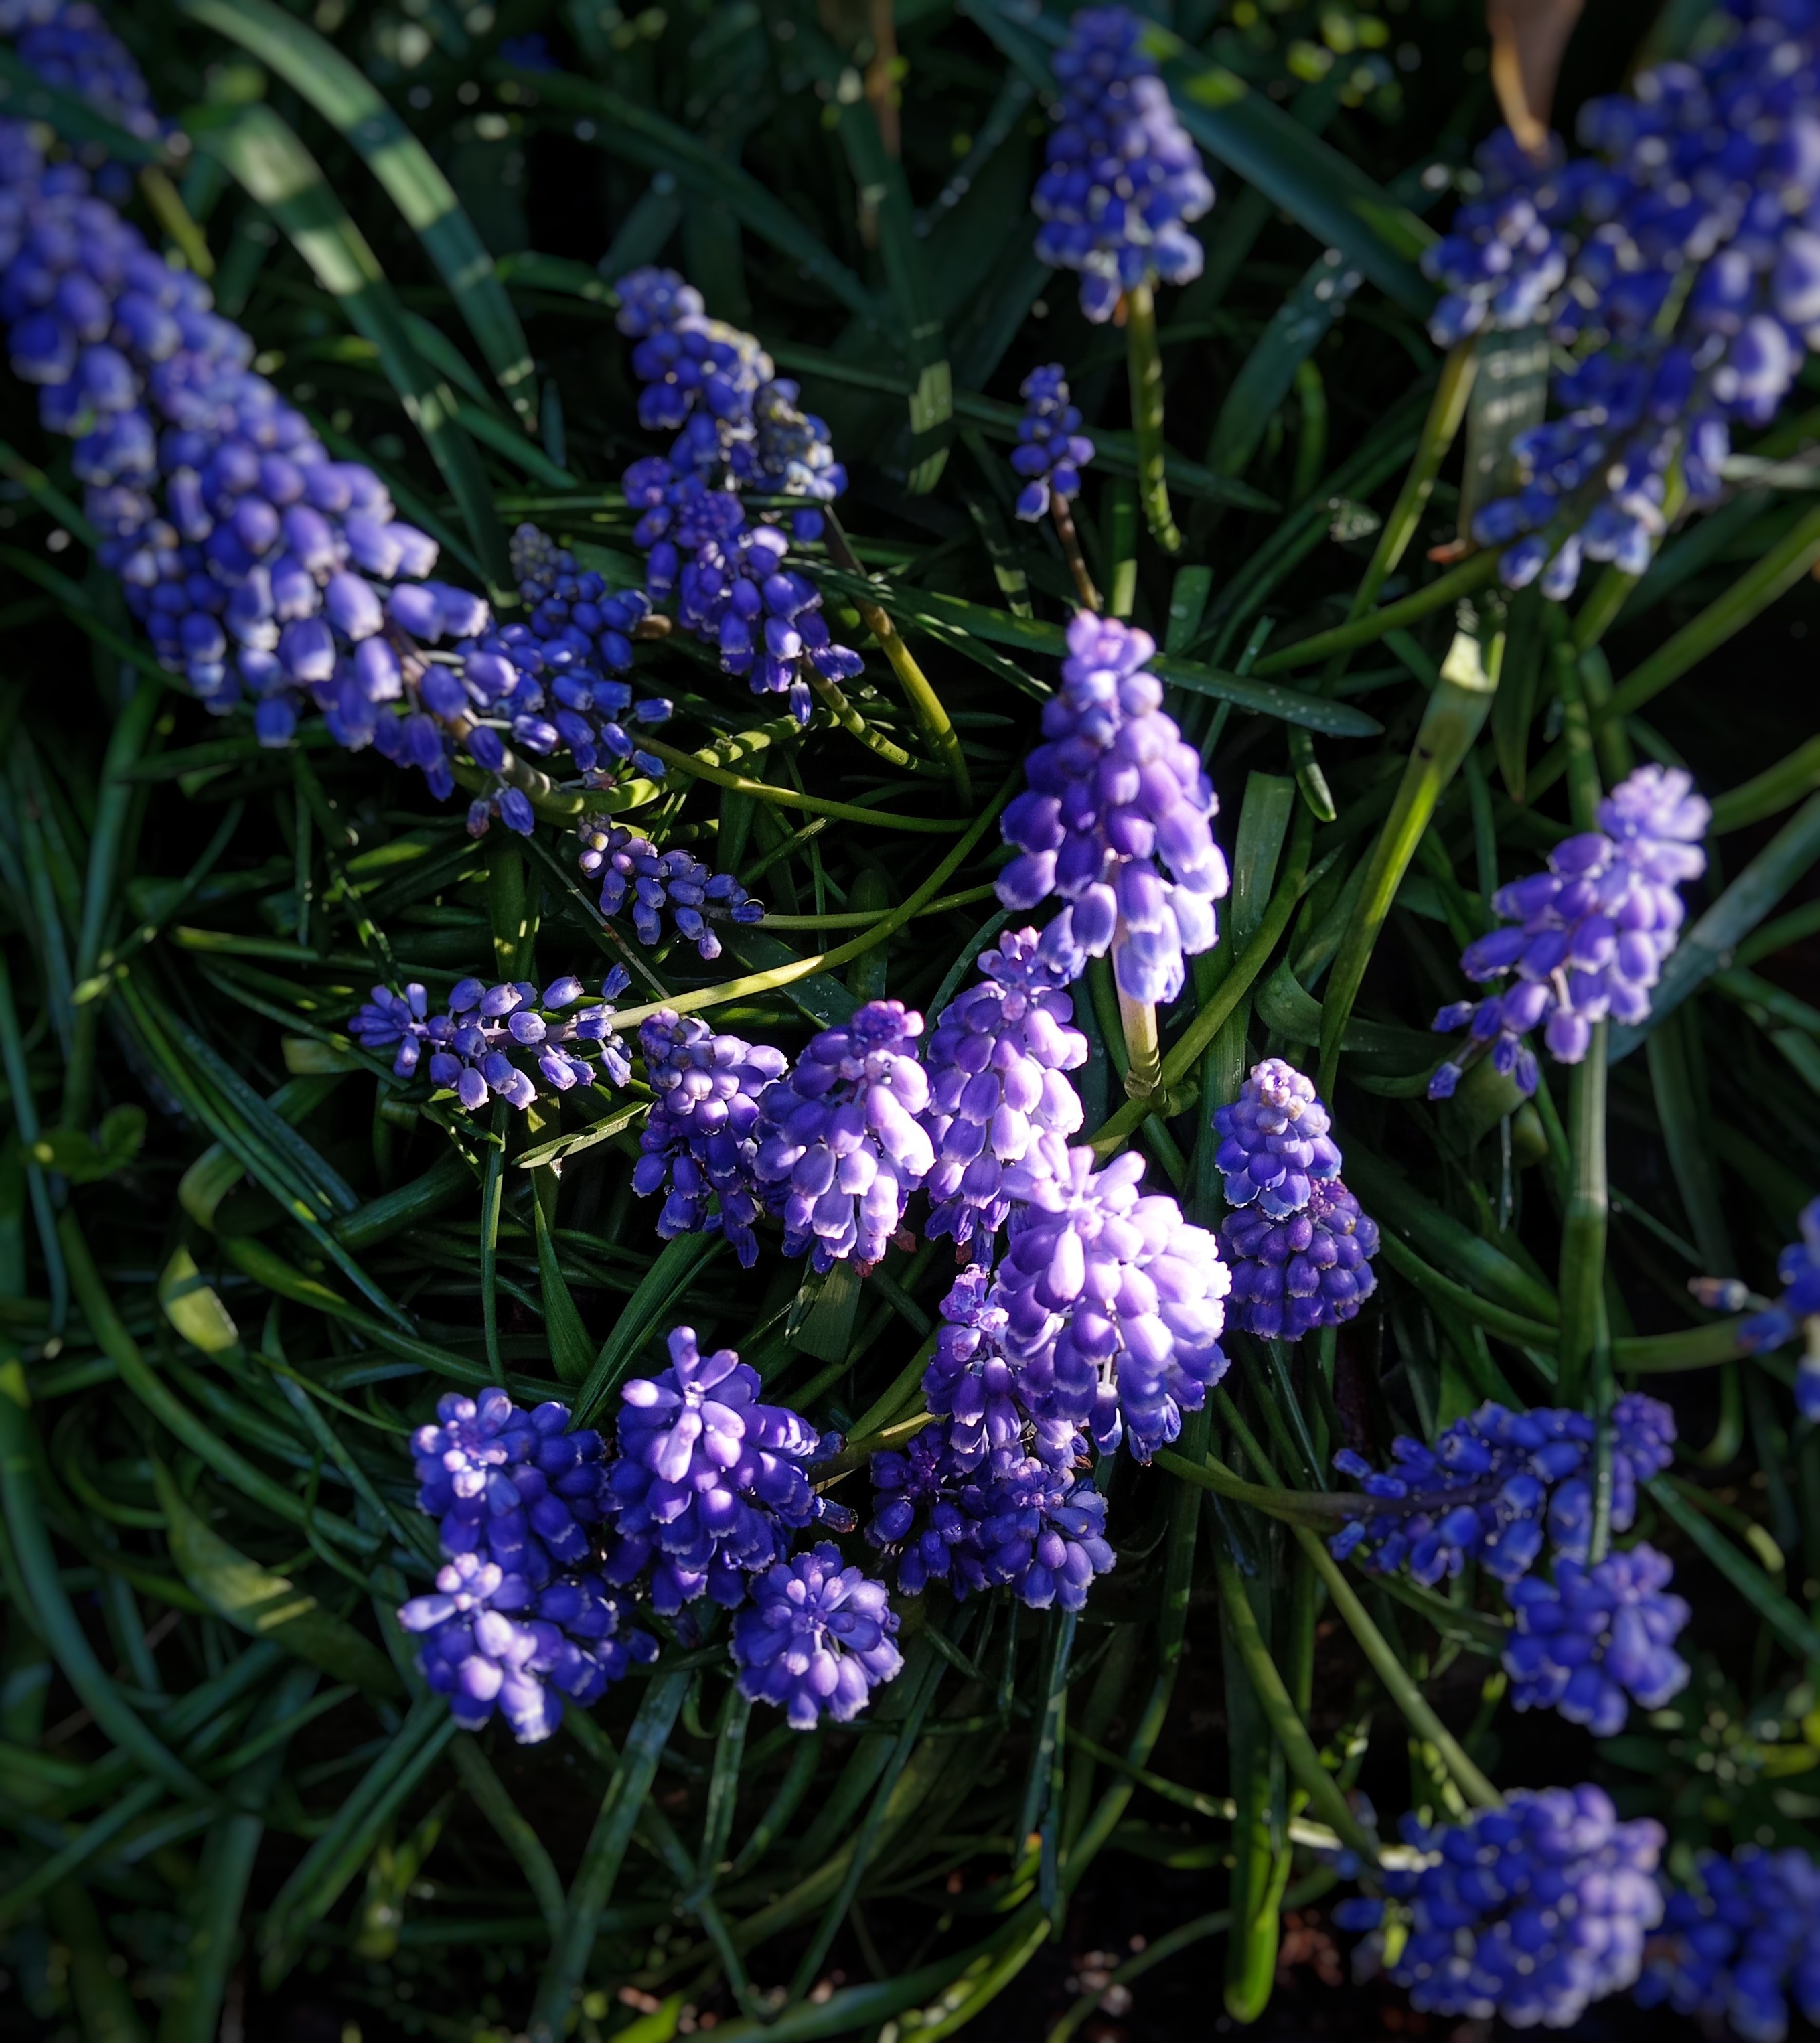
<instances>
[{"instance_id":1,"label":"blue grape hyacinth lying sideways, crossed by a vertical green stem","mask_svg":"<svg viewBox=\"0 0 1820 2043\"><path fill-rule=\"evenodd\" d=\"M1636 1487L1669 1465L1673 1440L1675 1416L1659 1399L1628 1391L1612 1408L1612 1530L1636 1522ZM1495 1581L1516 1581L1550 1540L1583 1561L1595 1442L1585 1412L1483 1404L1434 1446L1399 1436L1385 1473L1346 1448L1334 1467L1364 1489L1364 1508L1328 1545L1369 1575L1407 1569L1424 1587L1458 1575L1469 1559Z\"/></svg>"}]
</instances>

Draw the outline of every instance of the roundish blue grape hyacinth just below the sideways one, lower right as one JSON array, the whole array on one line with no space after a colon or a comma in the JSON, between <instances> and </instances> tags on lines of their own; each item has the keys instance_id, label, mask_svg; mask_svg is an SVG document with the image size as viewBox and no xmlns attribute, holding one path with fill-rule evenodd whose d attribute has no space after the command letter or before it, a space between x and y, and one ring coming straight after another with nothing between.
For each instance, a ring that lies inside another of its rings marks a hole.
<instances>
[{"instance_id":1,"label":"roundish blue grape hyacinth just below the sideways one, lower right","mask_svg":"<svg viewBox=\"0 0 1820 2043\"><path fill-rule=\"evenodd\" d=\"M1655 1547L1606 1555L1591 1567L1565 1555L1554 1579L1526 1575L1505 1587L1516 1632L1503 1649L1512 1702L1556 1710L1595 1739L1616 1739L1630 1704L1661 1710L1687 1685L1675 1638L1687 1602L1667 1594L1675 1567Z\"/></svg>"}]
</instances>

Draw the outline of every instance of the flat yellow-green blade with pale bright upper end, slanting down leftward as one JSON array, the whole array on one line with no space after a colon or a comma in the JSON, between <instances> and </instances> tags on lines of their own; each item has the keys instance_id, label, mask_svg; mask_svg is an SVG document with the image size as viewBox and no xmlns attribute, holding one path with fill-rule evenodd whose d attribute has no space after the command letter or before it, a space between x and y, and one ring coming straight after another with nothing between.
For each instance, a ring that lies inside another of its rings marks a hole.
<instances>
[{"instance_id":1,"label":"flat yellow-green blade with pale bright upper end, slanting down leftward","mask_svg":"<svg viewBox=\"0 0 1820 2043\"><path fill-rule=\"evenodd\" d=\"M1434 805L1442 789L1452 780L1471 752L1491 699L1497 693L1497 670L1503 660L1503 631L1499 629L1458 629L1452 648L1440 668L1440 680L1428 697L1422 713L1422 727L1409 750L1409 764L1391 813L1385 817L1377 848L1364 870L1364 885L1352 905L1334 968L1328 979L1328 993L1322 1001L1322 1075L1320 1091L1334 1097L1334 1077L1340 1062L1340 1042L1346 1036L1346 1022L1352 1017L1352 1003L1364 981L1364 968L1377 946L1379 930L1391 913L1416 846L1422 842Z\"/></svg>"}]
</instances>

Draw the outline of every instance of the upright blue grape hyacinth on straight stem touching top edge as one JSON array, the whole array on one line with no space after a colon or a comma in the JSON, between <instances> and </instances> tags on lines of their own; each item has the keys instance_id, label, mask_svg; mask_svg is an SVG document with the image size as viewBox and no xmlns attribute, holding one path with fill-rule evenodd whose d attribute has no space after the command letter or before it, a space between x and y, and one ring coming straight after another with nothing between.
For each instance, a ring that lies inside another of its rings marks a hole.
<instances>
[{"instance_id":1,"label":"upright blue grape hyacinth on straight stem touching top edge","mask_svg":"<svg viewBox=\"0 0 1820 2043\"><path fill-rule=\"evenodd\" d=\"M1081 8L1052 67L1058 127L1032 194L1036 253L1081 272L1081 311L1101 323L1125 292L1201 274L1187 223L1213 204L1213 186L1130 8Z\"/></svg>"}]
</instances>

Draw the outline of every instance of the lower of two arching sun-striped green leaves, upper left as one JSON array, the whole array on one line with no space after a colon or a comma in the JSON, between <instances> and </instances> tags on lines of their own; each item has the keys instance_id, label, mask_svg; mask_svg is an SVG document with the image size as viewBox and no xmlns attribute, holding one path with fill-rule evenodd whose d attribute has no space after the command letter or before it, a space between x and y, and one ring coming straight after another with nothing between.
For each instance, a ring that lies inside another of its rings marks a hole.
<instances>
[{"instance_id":1,"label":"lower of two arching sun-striped green leaves, upper left","mask_svg":"<svg viewBox=\"0 0 1820 2043\"><path fill-rule=\"evenodd\" d=\"M423 433L468 525L486 576L511 586L505 533L492 509L492 486L474 441L456 419L456 396L425 368L411 345L404 313L378 257L347 217L321 163L270 106L247 106L225 127L204 127L196 141L290 235L323 290L347 313L355 333L380 351L386 376L406 417Z\"/></svg>"}]
</instances>

